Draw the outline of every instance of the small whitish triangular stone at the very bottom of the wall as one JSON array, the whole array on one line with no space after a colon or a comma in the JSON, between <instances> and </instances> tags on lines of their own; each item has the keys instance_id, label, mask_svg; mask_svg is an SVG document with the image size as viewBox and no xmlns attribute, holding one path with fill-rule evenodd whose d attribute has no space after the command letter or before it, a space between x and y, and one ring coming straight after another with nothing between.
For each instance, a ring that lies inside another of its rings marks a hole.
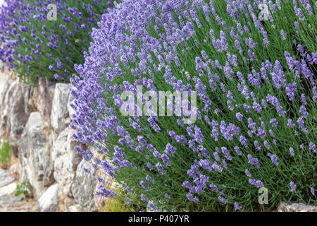
<instances>
[{"instance_id":1,"label":"small whitish triangular stone at the very bottom of the wall","mask_svg":"<svg viewBox=\"0 0 317 226\"><path fill-rule=\"evenodd\" d=\"M38 202L41 212L56 212L58 210L58 184L50 186Z\"/></svg>"}]
</instances>

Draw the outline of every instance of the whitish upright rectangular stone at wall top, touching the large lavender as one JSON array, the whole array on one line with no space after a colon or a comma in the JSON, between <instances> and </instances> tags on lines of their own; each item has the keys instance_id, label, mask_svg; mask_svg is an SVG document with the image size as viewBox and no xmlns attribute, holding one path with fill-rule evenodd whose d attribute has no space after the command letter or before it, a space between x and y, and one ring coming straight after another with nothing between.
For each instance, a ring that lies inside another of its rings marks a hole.
<instances>
[{"instance_id":1,"label":"whitish upright rectangular stone at wall top, touching the large lavender","mask_svg":"<svg viewBox=\"0 0 317 226\"><path fill-rule=\"evenodd\" d=\"M71 100L70 84L57 83L51 106L51 126L57 133L66 129L70 124L68 102Z\"/></svg>"}]
</instances>

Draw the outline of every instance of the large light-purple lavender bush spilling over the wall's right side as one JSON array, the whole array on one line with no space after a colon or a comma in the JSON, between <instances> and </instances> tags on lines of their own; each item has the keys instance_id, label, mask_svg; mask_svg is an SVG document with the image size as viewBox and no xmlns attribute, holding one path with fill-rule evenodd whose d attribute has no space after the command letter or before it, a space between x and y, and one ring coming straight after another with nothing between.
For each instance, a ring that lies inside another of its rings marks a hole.
<instances>
[{"instance_id":1,"label":"large light-purple lavender bush spilling over the wall's right side","mask_svg":"<svg viewBox=\"0 0 317 226\"><path fill-rule=\"evenodd\" d=\"M268 1L267 20L260 4L115 3L71 79L70 127L91 147L75 149L153 210L254 210L263 186L271 208L316 205L317 3ZM197 121L123 116L137 85L197 91Z\"/></svg>"}]
</instances>

